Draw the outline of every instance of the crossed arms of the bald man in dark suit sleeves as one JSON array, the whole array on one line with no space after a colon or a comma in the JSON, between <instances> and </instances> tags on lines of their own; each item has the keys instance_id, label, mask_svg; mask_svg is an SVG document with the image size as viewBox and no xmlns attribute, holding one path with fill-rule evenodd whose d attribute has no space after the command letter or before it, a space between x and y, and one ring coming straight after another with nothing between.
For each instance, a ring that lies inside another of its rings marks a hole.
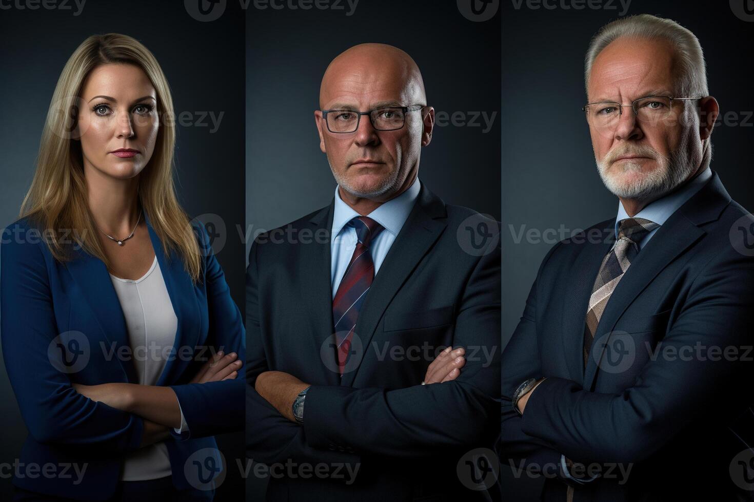
<instances>
[{"instance_id":1,"label":"crossed arms of the bald man in dark suit sleeves","mask_svg":"<svg viewBox=\"0 0 754 502\"><path fill-rule=\"evenodd\" d=\"M290 420L293 397L310 382L271 373L259 326L259 268L252 246L247 269L247 455L257 461L357 461L357 455L420 457L497 436L499 357L471 361L457 376L441 358L425 376L440 385L386 390L311 385L303 424ZM461 294L452 346L500 344L500 254L480 257ZM452 360L455 360L454 356ZM488 364L489 363L489 364ZM261 377L261 380L259 380ZM258 382L259 380L259 382ZM369 423L369 427L360 424ZM490 437L491 431L494 436ZM334 449L333 449L334 446Z\"/></svg>"}]
</instances>

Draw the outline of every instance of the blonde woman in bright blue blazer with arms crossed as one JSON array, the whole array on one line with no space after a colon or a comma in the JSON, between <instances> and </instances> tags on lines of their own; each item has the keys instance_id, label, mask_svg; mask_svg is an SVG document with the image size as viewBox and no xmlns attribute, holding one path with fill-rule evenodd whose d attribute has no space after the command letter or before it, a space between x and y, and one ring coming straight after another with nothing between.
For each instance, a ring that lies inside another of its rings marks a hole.
<instances>
[{"instance_id":1,"label":"blonde woman in bright blue blazer with arms crossed","mask_svg":"<svg viewBox=\"0 0 754 502\"><path fill-rule=\"evenodd\" d=\"M212 500L224 476L213 434L244 427L245 330L176 199L175 136L143 44L75 50L0 247L3 356L29 429L14 500ZM48 464L69 468L32 475Z\"/></svg>"}]
</instances>

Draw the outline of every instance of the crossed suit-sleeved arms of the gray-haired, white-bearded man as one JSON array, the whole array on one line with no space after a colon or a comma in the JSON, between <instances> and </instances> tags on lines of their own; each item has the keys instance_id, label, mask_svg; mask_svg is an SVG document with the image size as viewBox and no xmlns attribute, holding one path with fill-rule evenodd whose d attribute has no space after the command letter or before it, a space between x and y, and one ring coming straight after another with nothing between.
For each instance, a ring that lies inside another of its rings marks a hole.
<instances>
[{"instance_id":1,"label":"crossed suit-sleeved arms of the gray-haired, white-bearded man","mask_svg":"<svg viewBox=\"0 0 754 502\"><path fill-rule=\"evenodd\" d=\"M555 248L553 248L554 251ZM504 456L526 464L559 464L561 455L581 463L637 463L673 439L702 412L732 416L746 409L750 392L722 399L722 389L746 380L750 369L740 358L657 357L639 370L629 388L596 393L577 382L547 374L541 366L537 323L547 255L529 293L518 327L502 356L501 439ZM664 349L742 348L752 343L754 263L733 251L720 253L694 269ZM750 365L750 364L749 364ZM519 415L513 391L529 378L547 377L523 401ZM728 394L730 396L730 394Z\"/></svg>"}]
</instances>

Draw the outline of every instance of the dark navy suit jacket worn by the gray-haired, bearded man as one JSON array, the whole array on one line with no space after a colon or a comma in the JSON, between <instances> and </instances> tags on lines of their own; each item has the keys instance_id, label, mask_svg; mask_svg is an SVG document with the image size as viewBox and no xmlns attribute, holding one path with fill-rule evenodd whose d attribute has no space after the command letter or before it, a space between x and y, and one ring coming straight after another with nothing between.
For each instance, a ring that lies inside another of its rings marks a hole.
<instances>
[{"instance_id":1,"label":"dark navy suit jacket worn by the gray-haired, bearded man","mask_svg":"<svg viewBox=\"0 0 754 502\"><path fill-rule=\"evenodd\" d=\"M547 468L542 500L566 500L561 454L599 469L575 487L580 502L739 500L734 459L754 447L754 251L740 232L752 221L714 173L621 278L585 369L587 303L615 218L550 250L501 361L503 464ZM518 415L513 391L540 376ZM504 493L531 479L514 475Z\"/></svg>"}]
</instances>

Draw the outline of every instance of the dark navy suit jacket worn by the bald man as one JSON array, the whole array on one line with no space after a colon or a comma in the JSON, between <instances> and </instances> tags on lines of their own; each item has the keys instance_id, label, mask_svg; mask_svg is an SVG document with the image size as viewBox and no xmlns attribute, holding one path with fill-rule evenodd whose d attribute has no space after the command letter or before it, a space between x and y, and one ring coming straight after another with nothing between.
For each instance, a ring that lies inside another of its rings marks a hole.
<instances>
[{"instance_id":1,"label":"dark navy suit jacket worn by the bald man","mask_svg":"<svg viewBox=\"0 0 754 502\"><path fill-rule=\"evenodd\" d=\"M283 227L289 239L271 232L255 240L247 270L247 455L358 468L355 482L273 476L268 500L490 500L488 491L465 488L456 471L465 453L492 449L499 434L500 245L488 239L481 256L461 248L457 232L472 214L422 184L361 308L354 330L361 348L351 346L357 366L342 378L329 345L333 203ZM412 349L423 345L465 347L458 379L419 385L434 358ZM312 385L303 425L256 393L265 370Z\"/></svg>"}]
</instances>

